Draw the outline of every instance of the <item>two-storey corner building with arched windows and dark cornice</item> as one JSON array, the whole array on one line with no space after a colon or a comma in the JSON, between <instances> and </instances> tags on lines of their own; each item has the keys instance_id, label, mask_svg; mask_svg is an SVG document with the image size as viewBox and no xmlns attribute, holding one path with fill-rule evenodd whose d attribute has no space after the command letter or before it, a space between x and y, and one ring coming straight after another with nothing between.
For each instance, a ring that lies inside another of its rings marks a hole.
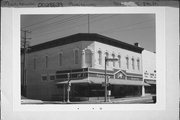
<instances>
[{"instance_id":1,"label":"two-storey corner building with arched windows and dark cornice","mask_svg":"<svg viewBox=\"0 0 180 120\"><path fill-rule=\"evenodd\" d=\"M102 99L105 57L111 97L144 95L143 48L95 33L79 33L32 46L26 54L27 97L65 100ZM151 61L147 65L151 64ZM154 63L153 63L154 64ZM155 65L153 65L155 66ZM154 69L154 68L153 68ZM149 72L149 71L148 71ZM68 79L70 80L68 82Z\"/></svg>"}]
</instances>

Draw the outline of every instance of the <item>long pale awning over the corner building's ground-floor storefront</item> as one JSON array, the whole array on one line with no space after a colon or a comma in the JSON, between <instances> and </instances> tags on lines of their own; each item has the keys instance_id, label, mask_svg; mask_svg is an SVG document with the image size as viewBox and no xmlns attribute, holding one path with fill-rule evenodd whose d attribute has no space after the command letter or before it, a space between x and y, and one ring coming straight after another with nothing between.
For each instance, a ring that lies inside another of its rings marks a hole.
<instances>
[{"instance_id":1,"label":"long pale awning over the corner building's ground-floor storefront","mask_svg":"<svg viewBox=\"0 0 180 120\"><path fill-rule=\"evenodd\" d=\"M104 78L95 78L89 77L81 80L71 80L71 84L102 84L104 83ZM143 81L135 81L135 80L121 80L121 79L109 79L109 83L111 85L133 85L133 86L150 86L147 83L143 83ZM57 82L56 84L67 84L67 81Z\"/></svg>"}]
</instances>

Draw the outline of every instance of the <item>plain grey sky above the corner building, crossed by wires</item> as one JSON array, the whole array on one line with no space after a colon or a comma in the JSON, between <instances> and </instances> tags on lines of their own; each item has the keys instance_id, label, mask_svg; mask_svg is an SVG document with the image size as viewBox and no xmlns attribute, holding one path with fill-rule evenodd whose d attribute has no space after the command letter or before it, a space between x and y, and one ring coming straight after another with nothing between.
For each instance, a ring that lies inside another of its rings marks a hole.
<instances>
[{"instance_id":1,"label":"plain grey sky above the corner building, crossed by wires","mask_svg":"<svg viewBox=\"0 0 180 120\"><path fill-rule=\"evenodd\" d=\"M156 51L154 14L21 15L21 29L31 31L27 34L31 46L89 32Z\"/></svg>"}]
</instances>

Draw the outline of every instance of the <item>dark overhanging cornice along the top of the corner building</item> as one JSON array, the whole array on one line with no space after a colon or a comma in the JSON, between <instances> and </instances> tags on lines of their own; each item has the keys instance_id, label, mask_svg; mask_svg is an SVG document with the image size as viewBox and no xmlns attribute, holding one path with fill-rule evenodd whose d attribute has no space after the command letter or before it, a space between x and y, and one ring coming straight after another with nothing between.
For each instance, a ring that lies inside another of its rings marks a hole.
<instances>
[{"instance_id":1,"label":"dark overhanging cornice along the top of the corner building","mask_svg":"<svg viewBox=\"0 0 180 120\"><path fill-rule=\"evenodd\" d=\"M142 50L144 50L144 48L137 47L97 33L77 33L63 38L58 38L52 41L31 46L29 53L48 49L48 48L53 48L57 46L62 46L74 42L79 42L79 41L97 41L100 43L112 45L115 47L123 48L137 53L141 53Z\"/></svg>"}]
</instances>

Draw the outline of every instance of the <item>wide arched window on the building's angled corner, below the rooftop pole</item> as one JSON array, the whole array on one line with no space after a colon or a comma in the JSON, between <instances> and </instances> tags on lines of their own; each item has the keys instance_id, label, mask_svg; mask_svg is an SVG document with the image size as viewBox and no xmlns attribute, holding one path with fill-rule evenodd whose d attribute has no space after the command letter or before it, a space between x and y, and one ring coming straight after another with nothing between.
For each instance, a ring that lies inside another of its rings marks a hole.
<instances>
[{"instance_id":1,"label":"wide arched window on the building's angled corner, below the rooftop pole","mask_svg":"<svg viewBox=\"0 0 180 120\"><path fill-rule=\"evenodd\" d=\"M92 52L91 50L85 50L85 63L87 67L92 67Z\"/></svg>"}]
</instances>

